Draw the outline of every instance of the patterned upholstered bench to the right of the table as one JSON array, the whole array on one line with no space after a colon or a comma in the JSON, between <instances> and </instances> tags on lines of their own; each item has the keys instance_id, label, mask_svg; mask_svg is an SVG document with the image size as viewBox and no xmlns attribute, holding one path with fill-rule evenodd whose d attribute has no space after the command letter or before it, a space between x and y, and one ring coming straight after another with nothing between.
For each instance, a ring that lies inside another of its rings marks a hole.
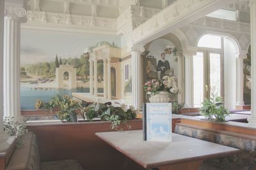
<instances>
[{"instance_id":1,"label":"patterned upholstered bench to the right of the table","mask_svg":"<svg viewBox=\"0 0 256 170\"><path fill-rule=\"evenodd\" d=\"M205 160L200 170L255 170L256 168L256 139L232 132L212 131L186 124L175 125L175 133L241 150L237 155Z\"/></svg>"}]
</instances>

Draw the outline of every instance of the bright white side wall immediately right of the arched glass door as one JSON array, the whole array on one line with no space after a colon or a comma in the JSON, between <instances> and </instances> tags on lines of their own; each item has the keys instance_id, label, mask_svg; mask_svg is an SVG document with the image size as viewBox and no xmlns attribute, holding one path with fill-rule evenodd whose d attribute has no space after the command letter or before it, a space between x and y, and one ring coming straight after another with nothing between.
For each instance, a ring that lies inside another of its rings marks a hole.
<instances>
[{"instance_id":1,"label":"bright white side wall immediately right of the arched glass door","mask_svg":"<svg viewBox=\"0 0 256 170\"><path fill-rule=\"evenodd\" d=\"M225 107L236 109L236 49L228 40L224 39L224 84Z\"/></svg>"}]
</instances>

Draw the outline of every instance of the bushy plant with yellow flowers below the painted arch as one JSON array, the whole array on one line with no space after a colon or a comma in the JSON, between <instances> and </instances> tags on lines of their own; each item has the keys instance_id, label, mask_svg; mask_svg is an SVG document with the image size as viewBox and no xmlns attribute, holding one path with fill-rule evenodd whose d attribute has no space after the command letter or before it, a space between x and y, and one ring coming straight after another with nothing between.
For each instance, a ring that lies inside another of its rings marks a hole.
<instances>
[{"instance_id":1,"label":"bushy plant with yellow flowers below the painted arch","mask_svg":"<svg viewBox=\"0 0 256 170\"><path fill-rule=\"evenodd\" d=\"M77 114L81 105L76 101L72 100L70 96L52 97L49 102L42 102L40 99L36 100L36 109L43 109L46 111L56 110L56 114L60 120L66 122L77 122Z\"/></svg>"}]
</instances>

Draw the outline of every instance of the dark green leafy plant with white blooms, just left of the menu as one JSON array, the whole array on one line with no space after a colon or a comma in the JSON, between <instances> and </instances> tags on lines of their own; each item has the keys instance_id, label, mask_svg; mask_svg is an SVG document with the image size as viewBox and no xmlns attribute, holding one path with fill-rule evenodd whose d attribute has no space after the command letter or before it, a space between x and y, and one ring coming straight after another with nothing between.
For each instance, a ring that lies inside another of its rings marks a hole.
<instances>
[{"instance_id":1,"label":"dark green leafy plant with white blooms, just left of the menu","mask_svg":"<svg viewBox=\"0 0 256 170\"><path fill-rule=\"evenodd\" d=\"M127 120L136 118L136 110L133 106L127 106L125 104L117 105L118 106L113 106L111 103L92 103L82 108L81 113L83 113L83 117L89 121L92 121L93 118L109 121L111 122L111 129L116 129L117 131L122 131L120 124L123 123L131 129L131 126L127 124Z\"/></svg>"}]
</instances>

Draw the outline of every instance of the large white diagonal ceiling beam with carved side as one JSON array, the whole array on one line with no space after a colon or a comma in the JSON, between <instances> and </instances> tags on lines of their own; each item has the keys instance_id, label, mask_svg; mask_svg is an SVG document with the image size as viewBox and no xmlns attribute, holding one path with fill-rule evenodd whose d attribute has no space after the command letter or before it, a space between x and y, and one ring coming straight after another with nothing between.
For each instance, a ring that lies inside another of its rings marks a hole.
<instances>
[{"instance_id":1,"label":"large white diagonal ceiling beam with carved side","mask_svg":"<svg viewBox=\"0 0 256 170\"><path fill-rule=\"evenodd\" d=\"M211 11L232 2L231 0L179 0L174 1L164 10L136 27L133 31L134 43L147 43L163 36L166 32L174 31L189 22L204 17Z\"/></svg>"}]
</instances>

